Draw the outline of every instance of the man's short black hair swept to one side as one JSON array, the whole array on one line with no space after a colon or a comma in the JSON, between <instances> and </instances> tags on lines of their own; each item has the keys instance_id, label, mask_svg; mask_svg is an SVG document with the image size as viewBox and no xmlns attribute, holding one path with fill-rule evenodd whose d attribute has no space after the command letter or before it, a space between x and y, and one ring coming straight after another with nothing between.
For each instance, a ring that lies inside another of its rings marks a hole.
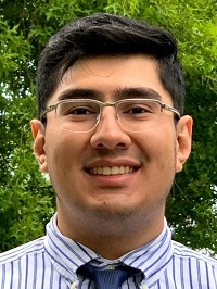
<instances>
[{"instance_id":1,"label":"man's short black hair swept to one side","mask_svg":"<svg viewBox=\"0 0 217 289\"><path fill-rule=\"evenodd\" d=\"M184 81L174 36L145 22L95 13L64 26L43 49L37 75L39 115L64 73L78 59L137 53L157 61L163 87L170 93L174 106L182 114Z\"/></svg>"}]
</instances>

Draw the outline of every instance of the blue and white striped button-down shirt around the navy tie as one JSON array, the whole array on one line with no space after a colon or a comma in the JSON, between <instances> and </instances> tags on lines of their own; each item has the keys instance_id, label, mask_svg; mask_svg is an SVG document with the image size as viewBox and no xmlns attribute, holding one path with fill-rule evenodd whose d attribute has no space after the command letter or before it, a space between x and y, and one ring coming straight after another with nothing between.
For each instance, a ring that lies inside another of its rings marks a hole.
<instances>
[{"instance_id":1,"label":"blue and white striped button-down shirt around the navy tie","mask_svg":"<svg viewBox=\"0 0 217 289\"><path fill-rule=\"evenodd\" d=\"M143 280L130 277L122 289L217 289L217 261L173 241L166 221L155 240L108 261L64 237L56 214L47 236L0 254L0 289L91 289L90 280L76 275L91 260L102 267L124 263L144 274Z\"/></svg>"}]
</instances>

